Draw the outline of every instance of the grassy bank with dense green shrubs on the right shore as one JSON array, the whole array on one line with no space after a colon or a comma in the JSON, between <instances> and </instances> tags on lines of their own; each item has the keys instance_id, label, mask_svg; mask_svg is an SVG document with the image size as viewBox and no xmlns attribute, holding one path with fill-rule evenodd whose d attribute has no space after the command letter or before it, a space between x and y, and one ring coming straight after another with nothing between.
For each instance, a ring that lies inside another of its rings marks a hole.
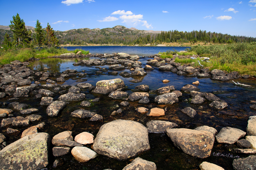
<instances>
[{"instance_id":1,"label":"grassy bank with dense green shrubs on the right shore","mask_svg":"<svg viewBox=\"0 0 256 170\"><path fill-rule=\"evenodd\" d=\"M228 45L211 45L211 46L192 46L188 52L163 52L161 58L172 58L174 53L179 55L200 55L200 57L210 57L209 62L203 62L197 59L179 59L175 62L188 64L194 62L193 67L220 69L226 73L237 71L240 74L256 76L256 43L235 43ZM198 61L201 65L200 66Z\"/></svg>"}]
</instances>

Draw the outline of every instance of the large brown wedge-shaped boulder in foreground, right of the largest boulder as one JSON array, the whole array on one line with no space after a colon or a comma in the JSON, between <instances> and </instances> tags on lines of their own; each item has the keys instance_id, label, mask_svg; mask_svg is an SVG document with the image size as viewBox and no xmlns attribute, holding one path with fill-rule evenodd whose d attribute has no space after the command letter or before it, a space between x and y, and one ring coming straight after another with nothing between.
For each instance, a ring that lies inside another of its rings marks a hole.
<instances>
[{"instance_id":1,"label":"large brown wedge-shaped boulder in foreground, right of the largest boulder","mask_svg":"<svg viewBox=\"0 0 256 170\"><path fill-rule=\"evenodd\" d=\"M199 158L211 155L214 136L211 132L191 129L167 129L167 135L183 152Z\"/></svg>"}]
</instances>

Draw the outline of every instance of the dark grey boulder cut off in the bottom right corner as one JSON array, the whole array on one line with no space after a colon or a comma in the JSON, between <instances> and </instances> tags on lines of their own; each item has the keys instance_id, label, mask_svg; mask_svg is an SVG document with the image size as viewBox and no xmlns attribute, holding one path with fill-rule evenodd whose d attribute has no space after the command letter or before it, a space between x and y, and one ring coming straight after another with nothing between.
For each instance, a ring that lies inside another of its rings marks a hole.
<instances>
[{"instance_id":1,"label":"dark grey boulder cut off in the bottom right corner","mask_svg":"<svg viewBox=\"0 0 256 170\"><path fill-rule=\"evenodd\" d=\"M233 161L233 167L235 170L254 170L256 169L256 156L251 155L247 158L238 158Z\"/></svg>"}]
</instances>

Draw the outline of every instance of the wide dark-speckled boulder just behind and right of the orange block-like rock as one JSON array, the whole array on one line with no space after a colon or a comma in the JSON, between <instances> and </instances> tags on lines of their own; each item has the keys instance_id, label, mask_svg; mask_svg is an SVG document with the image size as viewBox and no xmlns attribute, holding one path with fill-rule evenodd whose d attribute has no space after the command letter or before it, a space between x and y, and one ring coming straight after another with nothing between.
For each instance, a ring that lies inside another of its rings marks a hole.
<instances>
[{"instance_id":1,"label":"wide dark-speckled boulder just behind and right of the orange block-like rock","mask_svg":"<svg viewBox=\"0 0 256 170\"><path fill-rule=\"evenodd\" d=\"M179 99L175 93L166 93L156 96L155 102L158 104L173 104L178 103Z\"/></svg>"}]
</instances>

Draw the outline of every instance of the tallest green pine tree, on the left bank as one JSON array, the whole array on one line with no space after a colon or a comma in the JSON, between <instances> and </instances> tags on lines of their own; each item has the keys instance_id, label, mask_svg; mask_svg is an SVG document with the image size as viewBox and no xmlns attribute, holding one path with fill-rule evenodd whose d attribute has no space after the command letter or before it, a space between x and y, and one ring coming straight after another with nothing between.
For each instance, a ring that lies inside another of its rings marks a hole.
<instances>
[{"instance_id":1,"label":"tallest green pine tree, on the left bank","mask_svg":"<svg viewBox=\"0 0 256 170\"><path fill-rule=\"evenodd\" d=\"M11 25L9 25L10 30L13 32L13 36L16 42L16 45L26 45L31 41L29 37L29 32L25 28L25 23L23 19L20 18L19 14L17 13L16 16L12 17Z\"/></svg>"}]
</instances>

